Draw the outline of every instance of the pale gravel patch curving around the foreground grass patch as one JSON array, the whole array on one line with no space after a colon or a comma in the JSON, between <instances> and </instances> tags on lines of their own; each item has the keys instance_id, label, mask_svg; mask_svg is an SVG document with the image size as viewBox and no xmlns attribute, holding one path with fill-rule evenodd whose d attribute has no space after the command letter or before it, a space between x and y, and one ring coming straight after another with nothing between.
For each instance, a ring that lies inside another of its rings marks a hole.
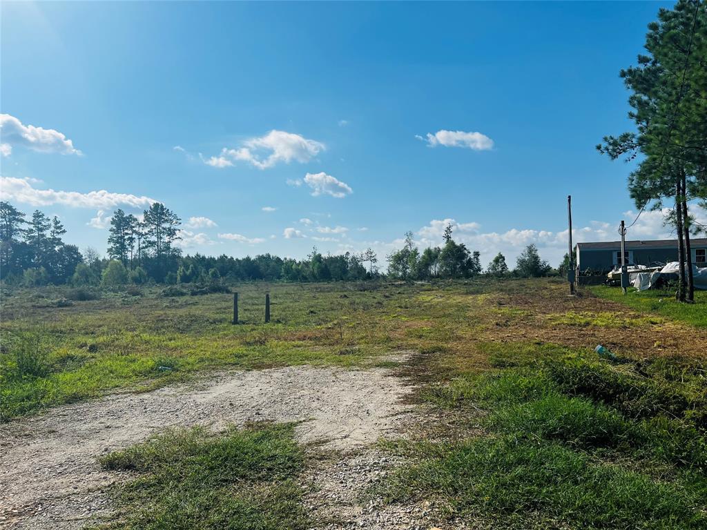
<instances>
[{"instance_id":1,"label":"pale gravel patch curving around the foreground grass patch","mask_svg":"<svg viewBox=\"0 0 707 530\"><path fill-rule=\"evenodd\" d=\"M96 460L167 427L303 421L301 442L352 454L396 430L411 388L390 370L284 367L117 394L0 427L0 526L77 529L105 513L117 480Z\"/></svg>"}]
</instances>

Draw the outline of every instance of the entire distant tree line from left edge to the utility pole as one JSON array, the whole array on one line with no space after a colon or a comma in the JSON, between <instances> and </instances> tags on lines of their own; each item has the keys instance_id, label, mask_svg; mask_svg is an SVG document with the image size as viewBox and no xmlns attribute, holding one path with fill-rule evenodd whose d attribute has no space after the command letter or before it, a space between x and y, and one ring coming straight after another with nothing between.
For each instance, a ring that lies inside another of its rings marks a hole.
<instances>
[{"instance_id":1,"label":"entire distant tree line from left edge to the utility pole","mask_svg":"<svg viewBox=\"0 0 707 530\"><path fill-rule=\"evenodd\" d=\"M372 249L361 254L322 254L316 248L305 259L273 254L234 258L194 254L182 256L180 218L164 204L154 203L142 216L116 210L110 220L107 257L93 248L83 252L67 245L57 217L39 210L28 218L6 201L0 201L0 279L16 285L122 285L126 283L214 283L226 281L361 281L384 276ZM551 271L530 245L511 272L499 253L486 270L479 252L469 252L445 231L442 247L415 247L408 232L404 247L388 256L387 276L402 280L492 276L544 276Z\"/></svg>"}]
</instances>

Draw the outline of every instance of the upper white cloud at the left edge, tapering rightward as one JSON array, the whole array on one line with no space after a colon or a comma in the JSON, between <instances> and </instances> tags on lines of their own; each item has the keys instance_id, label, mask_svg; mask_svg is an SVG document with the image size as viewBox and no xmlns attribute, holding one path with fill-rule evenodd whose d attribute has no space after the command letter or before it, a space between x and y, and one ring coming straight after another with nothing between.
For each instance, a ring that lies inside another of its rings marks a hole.
<instances>
[{"instance_id":1,"label":"upper white cloud at the left edge, tapering rightward","mask_svg":"<svg viewBox=\"0 0 707 530\"><path fill-rule=\"evenodd\" d=\"M13 146L23 146L39 153L81 155L71 140L59 131L25 125L10 114L0 114L0 138L0 151L4 156L11 154Z\"/></svg>"}]
</instances>

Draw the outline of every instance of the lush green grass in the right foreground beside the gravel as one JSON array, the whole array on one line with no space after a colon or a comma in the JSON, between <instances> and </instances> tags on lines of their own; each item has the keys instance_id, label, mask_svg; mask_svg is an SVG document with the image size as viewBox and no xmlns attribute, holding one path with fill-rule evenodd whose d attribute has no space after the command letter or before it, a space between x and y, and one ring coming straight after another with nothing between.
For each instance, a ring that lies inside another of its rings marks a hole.
<instances>
[{"instance_id":1,"label":"lush green grass in the right foreground beside the gravel","mask_svg":"<svg viewBox=\"0 0 707 530\"><path fill-rule=\"evenodd\" d=\"M479 347L498 370L461 372L423 397L466 413L485 435L389 444L409 461L383 486L387 500L433 497L450 519L483 528L707 527L700 360Z\"/></svg>"}]
</instances>

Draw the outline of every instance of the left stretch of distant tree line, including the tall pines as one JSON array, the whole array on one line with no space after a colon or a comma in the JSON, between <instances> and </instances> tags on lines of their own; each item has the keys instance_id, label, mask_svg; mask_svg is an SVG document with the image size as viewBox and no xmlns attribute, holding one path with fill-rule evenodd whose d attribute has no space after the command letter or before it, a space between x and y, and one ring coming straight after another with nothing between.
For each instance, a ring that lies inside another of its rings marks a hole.
<instances>
[{"instance_id":1,"label":"left stretch of distant tree line, including the tall pines","mask_svg":"<svg viewBox=\"0 0 707 530\"><path fill-rule=\"evenodd\" d=\"M228 281L354 281L378 278L373 250L323 255L316 248L306 259L272 254L234 258L182 256L180 218L153 203L142 216L116 210L110 220L107 257L88 247L66 245L59 218L37 210L27 215L0 202L0 279L28 286L62 284L213 283Z\"/></svg>"}]
</instances>

